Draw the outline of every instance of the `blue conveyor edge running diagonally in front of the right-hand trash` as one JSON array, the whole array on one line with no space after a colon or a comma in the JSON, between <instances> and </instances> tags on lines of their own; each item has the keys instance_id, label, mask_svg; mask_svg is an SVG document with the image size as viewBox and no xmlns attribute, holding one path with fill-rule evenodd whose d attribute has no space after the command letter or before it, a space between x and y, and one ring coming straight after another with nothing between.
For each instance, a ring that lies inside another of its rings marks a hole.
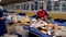
<instances>
[{"instance_id":1,"label":"blue conveyor edge running diagonally in front of the right-hand trash","mask_svg":"<svg viewBox=\"0 0 66 37\"><path fill-rule=\"evenodd\" d=\"M30 30L33 34L36 34L40 37L51 37L50 35L45 35L43 33L40 33L40 30L33 28L33 27L29 27L29 26L24 26L25 29Z\"/></svg>"}]
</instances>

